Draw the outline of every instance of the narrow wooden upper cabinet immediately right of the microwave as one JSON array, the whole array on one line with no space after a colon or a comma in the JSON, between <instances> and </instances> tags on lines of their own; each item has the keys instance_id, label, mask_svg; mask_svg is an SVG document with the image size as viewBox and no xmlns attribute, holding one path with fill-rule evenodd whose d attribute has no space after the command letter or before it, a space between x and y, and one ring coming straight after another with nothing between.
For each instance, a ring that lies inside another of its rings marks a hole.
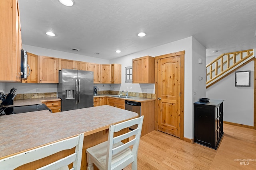
<instances>
[{"instance_id":1,"label":"narrow wooden upper cabinet immediately right of the microwave","mask_svg":"<svg viewBox=\"0 0 256 170\"><path fill-rule=\"evenodd\" d=\"M27 53L28 55L28 71L27 75L28 79L22 80L22 83L39 83L38 75L39 75L39 60L38 55Z\"/></svg>"}]
</instances>

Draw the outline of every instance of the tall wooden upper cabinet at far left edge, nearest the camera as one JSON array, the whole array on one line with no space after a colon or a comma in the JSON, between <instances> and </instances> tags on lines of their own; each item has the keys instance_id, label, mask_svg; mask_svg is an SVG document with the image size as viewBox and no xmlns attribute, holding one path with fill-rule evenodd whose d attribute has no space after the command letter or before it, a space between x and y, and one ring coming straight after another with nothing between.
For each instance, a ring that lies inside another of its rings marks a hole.
<instances>
[{"instance_id":1,"label":"tall wooden upper cabinet at far left edge, nearest the camera","mask_svg":"<svg viewBox=\"0 0 256 170\"><path fill-rule=\"evenodd\" d=\"M20 82L22 41L18 0L1 0L0 7L0 82Z\"/></svg>"}]
</instances>

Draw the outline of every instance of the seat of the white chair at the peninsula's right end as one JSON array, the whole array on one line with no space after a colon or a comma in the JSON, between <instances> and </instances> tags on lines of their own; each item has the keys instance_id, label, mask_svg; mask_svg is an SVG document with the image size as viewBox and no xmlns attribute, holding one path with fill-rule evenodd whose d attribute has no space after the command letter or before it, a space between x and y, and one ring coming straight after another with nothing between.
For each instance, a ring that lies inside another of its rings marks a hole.
<instances>
[{"instance_id":1,"label":"seat of the white chair at the peninsula's right end","mask_svg":"<svg viewBox=\"0 0 256 170\"><path fill-rule=\"evenodd\" d=\"M124 145L124 143L118 142L113 145L113 148L119 147L121 145ZM105 169L106 166L107 148L108 141L100 143L94 147L90 147L86 150L87 154L90 154L94 161L97 161L102 169ZM121 152L112 156L111 165L112 167L115 167L116 165L120 164L118 160L128 160L130 158L132 158L133 161L134 158L132 155L132 150L130 148L126 148L125 150L122 150Z\"/></svg>"}]
</instances>

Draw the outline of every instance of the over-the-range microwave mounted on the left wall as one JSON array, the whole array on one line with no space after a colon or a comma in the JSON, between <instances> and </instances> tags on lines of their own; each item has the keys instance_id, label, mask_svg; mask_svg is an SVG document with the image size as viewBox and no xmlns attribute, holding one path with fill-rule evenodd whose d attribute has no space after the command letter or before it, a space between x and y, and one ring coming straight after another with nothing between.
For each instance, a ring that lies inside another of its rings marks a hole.
<instances>
[{"instance_id":1,"label":"over-the-range microwave mounted on the left wall","mask_svg":"<svg viewBox=\"0 0 256 170\"><path fill-rule=\"evenodd\" d=\"M27 51L22 49L20 51L20 78L26 80L28 79L29 74L30 74L30 67L28 65L28 54L27 54Z\"/></svg>"}]
</instances>

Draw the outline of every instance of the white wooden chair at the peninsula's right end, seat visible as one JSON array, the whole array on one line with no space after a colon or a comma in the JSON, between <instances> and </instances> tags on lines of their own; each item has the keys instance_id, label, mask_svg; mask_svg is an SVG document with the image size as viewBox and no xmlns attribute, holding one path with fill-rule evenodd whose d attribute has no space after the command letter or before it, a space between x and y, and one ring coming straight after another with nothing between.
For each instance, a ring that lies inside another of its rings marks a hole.
<instances>
[{"instance_id":1,"label":"white wooden chair at the peninsula's right end, seat visible","mask_svg":"<svg viewBox=\"0 0 256 170\"><path fill-rule=\"evenodd\" d=\"M137 170L137 154L140 143L140 134L144 116L125 121L116 125L110 125L108 141L86 149L87 170L93 170L93 164L100 170L121 170L132 163L132 170ZM138 125L137 129L123 135L113 137L118 132L132 125ZM135 135L128 143L121 141ZM132 149L129 147L133 146Z\"/></svg>"}]
</instances>

